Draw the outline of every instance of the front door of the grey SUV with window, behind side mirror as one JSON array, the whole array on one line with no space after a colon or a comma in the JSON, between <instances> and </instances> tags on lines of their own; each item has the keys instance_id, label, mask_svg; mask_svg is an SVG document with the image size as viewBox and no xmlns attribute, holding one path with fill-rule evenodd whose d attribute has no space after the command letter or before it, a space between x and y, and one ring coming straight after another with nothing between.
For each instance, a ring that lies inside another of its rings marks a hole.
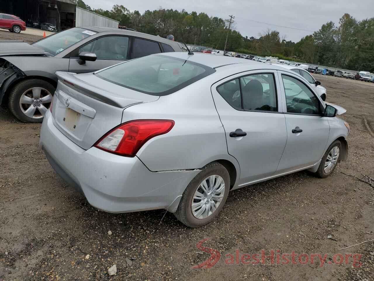
<instances>
[{"instance_id":1,"label":"front door of the grey SUV with window, behind side mirror","mask_svg":"<svg viewBox=\"0 0 374 281\"><path fill-rule=\"evenodd\" d=\"M127 60L129 50L128 36L103 36L92 40L70 53L69 71L75 73L93 72ZM79 64L81 52L93 52L96 61Z\"/></svg>"}]
</instances>

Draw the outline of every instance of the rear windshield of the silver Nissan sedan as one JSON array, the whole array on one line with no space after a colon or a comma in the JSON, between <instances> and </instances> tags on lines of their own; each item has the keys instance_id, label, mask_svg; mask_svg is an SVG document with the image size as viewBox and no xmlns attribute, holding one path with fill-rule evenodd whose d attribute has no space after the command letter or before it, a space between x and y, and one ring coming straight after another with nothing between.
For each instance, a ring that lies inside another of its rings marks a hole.
<instances>
[{"instance_id":1,"label":"rear windshield of the silver Nissan sedan","mask_svg":"<svg viewBox=\"0 0 374 281\"><path fill-rule=\"evenodd\" d=\"M95 72L99 78L154 96L174 93L212 73L211 67L165 55L149 55Z\"/></svg>"}]
</instances>

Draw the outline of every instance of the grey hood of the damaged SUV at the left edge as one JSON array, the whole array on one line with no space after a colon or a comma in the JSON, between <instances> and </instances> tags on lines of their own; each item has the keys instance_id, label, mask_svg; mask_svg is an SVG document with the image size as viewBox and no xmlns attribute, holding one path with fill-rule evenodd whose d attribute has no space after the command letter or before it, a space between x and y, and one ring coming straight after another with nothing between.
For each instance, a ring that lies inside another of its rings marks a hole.
<instances>
[{"instance_id":1,"label":"grey hood of the damaged SUV at the left edge","mask_svg":"<svg viewBox=\"0 0 374 281\"><path fill-rule=\"evenodd\" d=\"M48 52L23 41L0 40L0 57L14 55L44 55Z\"/></svg>"}]
</instances>

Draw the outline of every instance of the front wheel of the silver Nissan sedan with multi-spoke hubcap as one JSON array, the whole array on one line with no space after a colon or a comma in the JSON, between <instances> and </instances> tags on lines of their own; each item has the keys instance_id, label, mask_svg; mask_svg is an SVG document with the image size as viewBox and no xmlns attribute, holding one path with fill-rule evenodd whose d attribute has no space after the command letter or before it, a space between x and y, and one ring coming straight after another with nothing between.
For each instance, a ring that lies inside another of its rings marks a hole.
<instances>
[{"instance_id":1,"label":"front wheel of the silver Nissan sedan with multi-spoke hubcap","mask_svg":"<svg viewBox=\"0 0 374 281\"><path fill-rule=\"evenodd\" d=\"M316 175L320 178L327 178L335 170L338 164L341 152L341 142L336 140L327 149L322 157Z\"/></svg>"}]
</instances>

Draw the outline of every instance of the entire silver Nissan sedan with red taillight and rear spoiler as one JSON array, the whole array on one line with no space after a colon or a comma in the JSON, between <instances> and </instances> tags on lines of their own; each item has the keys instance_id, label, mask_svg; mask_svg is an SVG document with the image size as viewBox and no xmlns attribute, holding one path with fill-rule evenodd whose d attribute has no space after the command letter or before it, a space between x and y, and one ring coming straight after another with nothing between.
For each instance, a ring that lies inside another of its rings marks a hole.
<instances>
[{"instance_id":1,"label":"entire silver Nissan sedan with red taillight and rear spoiler","mask_svg":"<svg viewBox=\"0 0 374 281\"><path fill-rule=\"evenodd\" d=\"M305 169L325 178L347 158L345 109L283 67L172 52L56 75L40 146L107 212L164 208L199 227L230 190Z\"/></svg>"}]
</instances>

